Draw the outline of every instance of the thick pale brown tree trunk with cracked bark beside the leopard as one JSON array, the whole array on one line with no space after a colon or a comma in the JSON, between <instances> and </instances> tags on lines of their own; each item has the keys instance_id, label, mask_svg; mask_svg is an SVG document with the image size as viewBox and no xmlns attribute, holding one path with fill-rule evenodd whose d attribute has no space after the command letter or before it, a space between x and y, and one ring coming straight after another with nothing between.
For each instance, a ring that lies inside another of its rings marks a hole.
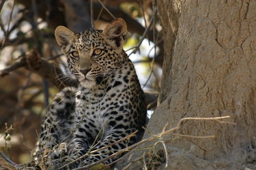
<instances>
[{"instance_id":1,"label":"thick pale brown tree trunk with cracked bark beside the leopard","mask_svg":"<svg viewBox=\"0 0 256 170\"><path fill-rule=\"evenodd\" d=\"M188 120L177 133L215 137L167 142L169 166L255 169L256 1L182 1L175 48L167 44L177 19L170 7L175 1L157 2L165 33L165 65L160 105L147 131L159 133L166 122L175 126L186 117L231 116L226 121L236 125Z\"/></svg>"}]
</instances>

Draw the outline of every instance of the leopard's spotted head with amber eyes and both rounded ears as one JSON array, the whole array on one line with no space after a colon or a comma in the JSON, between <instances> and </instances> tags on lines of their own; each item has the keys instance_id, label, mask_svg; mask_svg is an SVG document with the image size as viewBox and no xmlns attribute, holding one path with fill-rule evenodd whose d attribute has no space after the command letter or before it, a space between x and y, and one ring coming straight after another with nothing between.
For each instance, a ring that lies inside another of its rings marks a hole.
<instances>
[{"instance_id":1,"label":"leopard's spotted head with amber eyes and both rounded ears","mask_svg":"<svg viewBox=\"0 0 256 170\"><path fill-rule=\"evenodd\" d=\"M117 18L103 31L89 29L76 35L59 26L55 37L76 80L84 86L95 86L122 62L126 31L126 22Z\"/></svg>"}]
</instances>

